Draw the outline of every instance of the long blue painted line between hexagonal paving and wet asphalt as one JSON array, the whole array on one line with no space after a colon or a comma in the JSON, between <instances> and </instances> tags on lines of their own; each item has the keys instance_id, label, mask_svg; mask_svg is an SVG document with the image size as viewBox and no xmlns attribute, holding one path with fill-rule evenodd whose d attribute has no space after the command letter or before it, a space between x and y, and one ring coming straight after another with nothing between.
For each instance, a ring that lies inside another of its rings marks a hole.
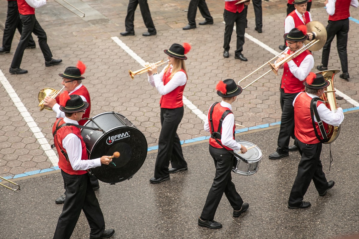
<instances>
[{"instance_id":1,"label":"long blue painted line between hexagonal paving and wet asphalt","mask_svg":"<svg viewBox=\"0 0 359 239\"><path fill-rule=\"evenodd\" d=\"M359 107L343 109L343 112L345 113L345 112L350 112L350 111L354 111L354 110L359 110ZM269 127L275 126L275 125L280 125L280 121L275 122L275 123L270 123L270 124L257 125L257 126L253 126L253 127L249 127L249 128L236 129L234 131L234 133L238 134L238 133L248 132L248 131L254 130L254 129L264 129L264 128L269 128ZM201 137L198 137L198 138L181 140L180 143L181 144L187 144L187 143L192 143L192 142L198 142L198 141L209 139L210 137L211 137L210 135L201 136ZM158 145L151 146L151 147L147 148L147 152L152 151L152 150L157 150L157 149L158 149ZM20 173L20 174L14 175L14 176L5 176L4 178L10 180L10 179L14 179L14 178L20 178L20 177L29 176L29 175L36 175L36 174L39 174L39 173L55 171L55 170L59 170L59 169L60 169L59 166L55 166L55 167L51 167L51 168L45 168L45 169L41 169L41 170L34 170L34 171L25 172L25 173ZM1 180L0 180L0 182L1 182Z\"/></svg>"}]
</instances>

